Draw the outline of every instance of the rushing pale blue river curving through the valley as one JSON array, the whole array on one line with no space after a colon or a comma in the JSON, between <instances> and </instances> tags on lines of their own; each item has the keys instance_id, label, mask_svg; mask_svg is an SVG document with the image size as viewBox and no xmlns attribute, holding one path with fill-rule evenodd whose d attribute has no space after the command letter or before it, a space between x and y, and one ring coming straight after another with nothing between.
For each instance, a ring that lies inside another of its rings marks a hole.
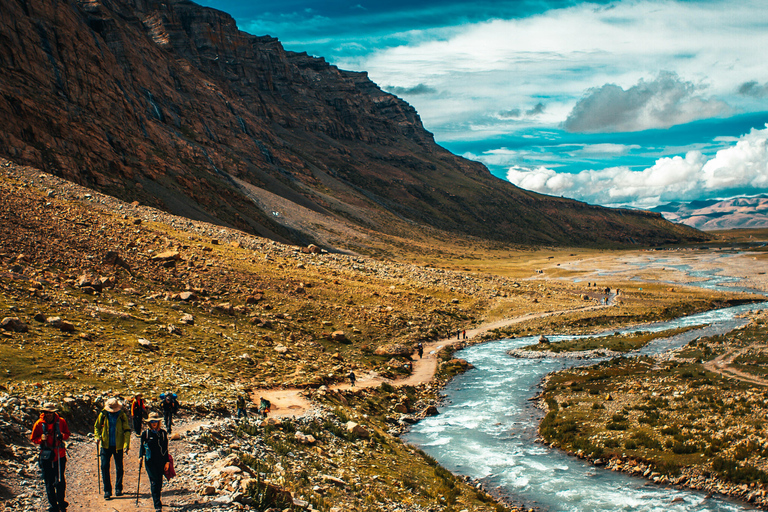
<instances>
[{"instance_id":1,"label":"rushing pale blue river curving through the valley","mask_svg":"<svg viewBox=\"0 0 768 512\"><path fill-rule=\"evenodd\" d=\"M640 353L660 353L698 336L712 336L741 326L735 318L768 302L710 311L627 331L663 331L704 325L674 338L655 340ZM615 332L614 330L611 333ZM572 339L548 336L551 341ZM419 422L405 436L454 473L481 480L487 489L545 511L735 511L755 510L703 493L651 484L624 473L598 469L559 450L536 444L542 412L529 399L542 378L566 367L595 361L517 359L507 351L537 342L537 337L499 340L461 350L474 369L446 387L438 416Z\"/></svg>"}]
</instances>

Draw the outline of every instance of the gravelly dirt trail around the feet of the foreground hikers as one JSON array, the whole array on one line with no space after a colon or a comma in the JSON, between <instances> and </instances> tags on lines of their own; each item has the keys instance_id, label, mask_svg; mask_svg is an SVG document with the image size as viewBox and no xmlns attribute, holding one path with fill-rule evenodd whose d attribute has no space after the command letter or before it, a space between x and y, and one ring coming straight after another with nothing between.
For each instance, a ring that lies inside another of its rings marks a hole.
<instances>
[{"instance_id":1,"label":"gravelly dirt trail around the feet of the foreground hikers","mask_svg":"<svg viewBox=\"0 0 768 512\"><path fill-rule=\"evenodd\" d=\"M199 425L211 423L211 421L192 421L187 423L174 422L174 433L184 433L197 428ZM141 470L141 490L139 493L139 505L136 505L136 484L139 468L139 438L131 434L131 449L125 455L123 467L125 469L123 477L123 495L113 496L110 500L105 500L103 488L99 491L97 481L97 458L95 441L77 442L68 449L67 453L67 501L69 502L68 511L93 511L93 512L144 512L154 511L152 505L152 495L149 492L149 479L147 472ZM169 441L168 446L174 460L181 460L182 455L190 451L190 445L184 440ZM177 473L181 475L183 464L176 468ZM111 465L112 486L115 485L114 463ZM170 482L163 483L163 507L174 502L189 502L194 498L192 495L196 489L186 489L180 483L180 478L174 478ZM45 491L43 491L43 495ZM43 498L45 503L47 501Z\"/></svg>"}]
</instances>

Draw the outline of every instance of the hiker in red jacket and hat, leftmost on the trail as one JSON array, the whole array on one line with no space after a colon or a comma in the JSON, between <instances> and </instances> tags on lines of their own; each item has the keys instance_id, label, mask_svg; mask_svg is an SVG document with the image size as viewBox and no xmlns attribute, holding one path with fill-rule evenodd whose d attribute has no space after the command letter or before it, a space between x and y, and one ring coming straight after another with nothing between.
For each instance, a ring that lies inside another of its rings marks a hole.
<instances>
[{"instance_id":1,"label":"hiker in red jacket and hat, leftmost on the trail","mask_svg":"<svg viewBox=\"0 0 768 512\"><path fill-rule=\"evenodd\" d=\"M64 441L69 439L69 428L64 418L56 414L56 406L50 402L40 408L40 419L32 427L29 439L40 445L40 472L43 474L45 494L48 496L48 512L65 512L69 503L64 501L67 482L67 450Z\"/></svg>"}]
</instances>

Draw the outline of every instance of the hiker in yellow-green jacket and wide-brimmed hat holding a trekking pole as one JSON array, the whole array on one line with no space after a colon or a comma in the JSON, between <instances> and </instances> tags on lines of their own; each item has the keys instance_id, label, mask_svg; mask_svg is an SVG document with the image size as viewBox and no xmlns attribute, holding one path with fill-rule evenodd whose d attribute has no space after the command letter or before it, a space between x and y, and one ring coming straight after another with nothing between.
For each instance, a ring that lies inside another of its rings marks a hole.
<instances>
[{"instance_id":1,"label":"hiker in yellow-green jacket and wide-brimmed hat holding a trekking pole","mask_svg":"<svg viewBox=\"0 0 768 512\"><path fill-rule=\"evenodd\" d=\"M115 496L123 495L123 455L131 449L131 426L117 398L110 398L93 426L96 444L101 443L101 477L104 479L104 499L112 498L112 478L109 460L115 458Z\"/></svg>"}]
</instances>

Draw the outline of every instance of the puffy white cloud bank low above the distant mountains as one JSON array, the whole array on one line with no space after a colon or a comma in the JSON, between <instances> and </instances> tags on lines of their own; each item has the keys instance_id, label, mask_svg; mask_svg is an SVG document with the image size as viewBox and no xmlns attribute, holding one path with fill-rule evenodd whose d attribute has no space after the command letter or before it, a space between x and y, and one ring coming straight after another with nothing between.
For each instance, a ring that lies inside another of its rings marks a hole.
<instances>
[{"instance_id":1,"label":"puffy white cloud bank low above the distant mountains","mask_svg":"<svg viewBox=\"0 0 768 512\"><path fill-rule=\"evenodd\" d=\"M661 158L643 171L626 167L558 173L538 167L509 169L507 179L522 188L596 204L654 206L659 202L719 197L723 192L768 189L768 125L707 158L699 151Z\"/></svg>"}]
</instances>

